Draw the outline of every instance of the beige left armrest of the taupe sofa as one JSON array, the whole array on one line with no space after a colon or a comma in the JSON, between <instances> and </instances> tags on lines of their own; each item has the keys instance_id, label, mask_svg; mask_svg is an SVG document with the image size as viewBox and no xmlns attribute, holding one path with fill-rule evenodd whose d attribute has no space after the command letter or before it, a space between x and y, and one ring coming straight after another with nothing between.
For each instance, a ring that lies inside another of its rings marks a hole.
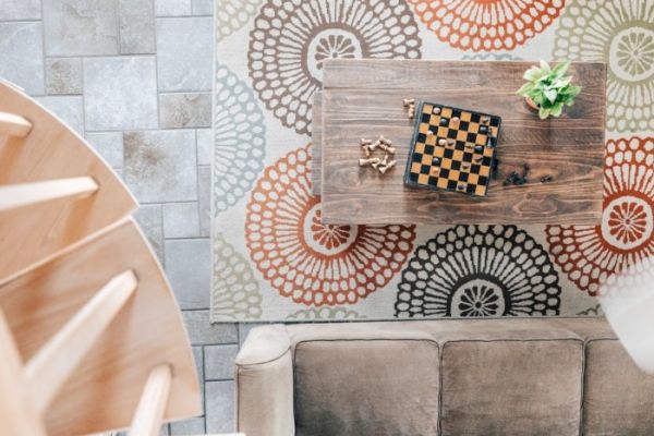
<instances>
[{"instance_id":1,"label":"beige left armrest of the taupe sofa","mask_svg":"<svg viewBox=\"0 0 654 436\"><path fill-rule=\"evenodd\" d=\"M293 359L284 326L252 329L235 360L237 431L293 436Z\"/></svg>"}]
</instances>

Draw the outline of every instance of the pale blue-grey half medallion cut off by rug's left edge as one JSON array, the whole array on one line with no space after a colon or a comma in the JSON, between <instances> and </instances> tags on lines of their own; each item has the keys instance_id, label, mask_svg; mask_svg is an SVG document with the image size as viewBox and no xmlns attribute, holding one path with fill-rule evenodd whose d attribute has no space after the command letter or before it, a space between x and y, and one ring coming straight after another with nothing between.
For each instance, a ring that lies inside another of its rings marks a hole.
<instances>
[{"instance_id":1,"label":"pale blue-grey half medallion cut off by rug's left edge","mask_svg":"<svg viewBox=\"0 0 654 436\"><path fill-rule=\"evenodd\" d=\"M266 125L252 89L225 65L216 65L214 213L252 189L264 168Z\"/></svg>"}]
</instances>

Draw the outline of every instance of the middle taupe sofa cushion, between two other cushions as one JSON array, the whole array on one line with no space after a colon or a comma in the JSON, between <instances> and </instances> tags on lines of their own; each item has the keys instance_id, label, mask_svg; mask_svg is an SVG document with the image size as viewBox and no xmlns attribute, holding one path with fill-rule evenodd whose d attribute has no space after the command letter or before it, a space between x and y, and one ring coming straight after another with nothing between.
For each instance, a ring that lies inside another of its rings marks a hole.
<instances>
[{"instance_id":1,"label":"middle taupe sofa cushion, between two other cushions","mask_svg":"<svg viewBox=\"0 0 654 436\"><path fill-rule=\"evenodd\" d=\"M579 435L583 341L461 340L441 353L441 435Z\"/></svg>"}]
</instances>

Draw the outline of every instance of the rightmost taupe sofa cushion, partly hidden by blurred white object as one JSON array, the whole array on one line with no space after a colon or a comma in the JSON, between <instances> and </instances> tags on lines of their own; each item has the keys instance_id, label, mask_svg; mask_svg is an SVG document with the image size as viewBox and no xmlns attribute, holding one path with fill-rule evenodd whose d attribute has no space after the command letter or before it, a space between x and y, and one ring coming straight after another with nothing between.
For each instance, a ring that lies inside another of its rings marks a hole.
<instances>
[{"instance_id":1,"label":"rightmost taupe sofa cushion, partly hidden by blurred white object","mask_svg":"<svg viewBox=\"0 0 654 436\"><path fill-rule=\"evenodd\" d=\"M654 435L654 375L617 340L588 343L584 389L584 435Z\"/></svg>"}]
</instances>

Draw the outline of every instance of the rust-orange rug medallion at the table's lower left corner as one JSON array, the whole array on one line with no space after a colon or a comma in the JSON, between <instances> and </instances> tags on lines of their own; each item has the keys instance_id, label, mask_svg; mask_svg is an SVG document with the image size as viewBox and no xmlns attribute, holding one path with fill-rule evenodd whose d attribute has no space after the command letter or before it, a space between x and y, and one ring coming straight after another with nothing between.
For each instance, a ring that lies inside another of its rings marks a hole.
<instances>
[{"instance_id":1,"label":"rust-orange rug medallion at the table's lower left corner","mask_svg":"<svg viewBox=\"0 0 654 436\"><path fill-rule=\"evenodd\" d=\"M311 194L310 146L267 167L247 203L250 257L283 296L354 304L384 288L413 249L414 226L331 226Z\"/></svg>"}]
</instances>

